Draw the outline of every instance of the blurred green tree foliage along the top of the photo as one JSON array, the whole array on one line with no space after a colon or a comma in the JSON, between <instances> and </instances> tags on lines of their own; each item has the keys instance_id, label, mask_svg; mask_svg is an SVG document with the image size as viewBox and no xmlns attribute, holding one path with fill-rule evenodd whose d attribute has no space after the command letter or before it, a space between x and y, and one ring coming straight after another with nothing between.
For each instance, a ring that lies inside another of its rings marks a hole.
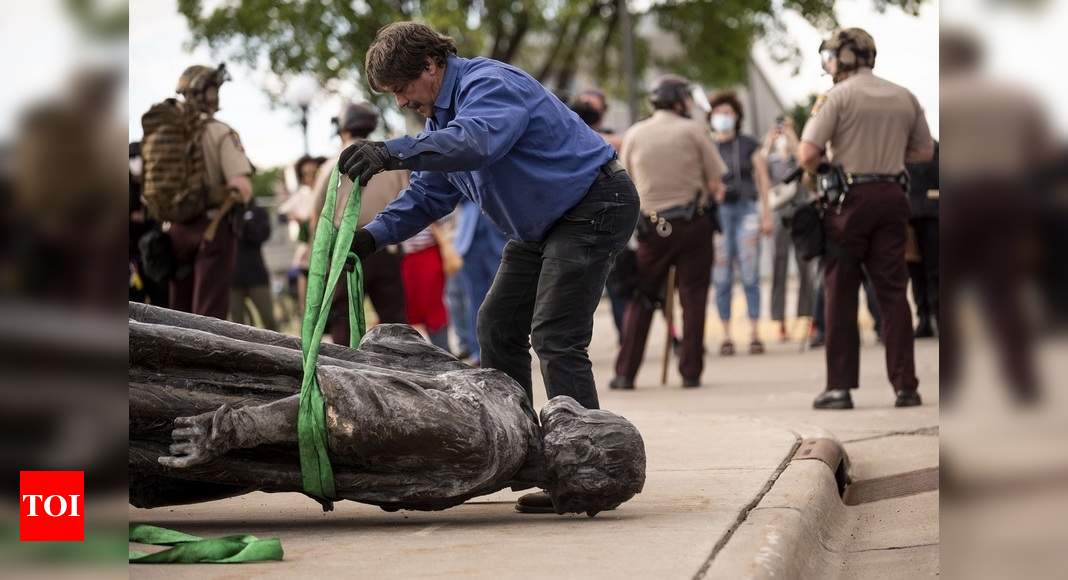
<instances>
[{"instance_id":1,"label":"blurred green tree foliage along the top of the photo","mask_svg":"<svg viewBox=\"0 0 1068 580\"><path fill-rule=\"evenodd\" d=\"M878 10L893 5L914 15L925 0L869 1ZM639 77L656 64L712 85L744 79L756 38L766 41L778 61L799 62L800 48L786 33L785 13L799 14L819 30L837 23L834 0L661 0L643 5L647 7L634 21L651 19L686 49L658 56L649 38L635 35ZM360 70L375 32L393 21L420 20L455 38L461 54L516 63L562 91L572 89L584 67L615 94L623 92L618 6L617 0L225 0L205 11L201 0L178 0L193 45L207 45L255 68L269 67L281 79L310 74L328 90L339 82L366 88Z\"/></svg>"}]
</instances>

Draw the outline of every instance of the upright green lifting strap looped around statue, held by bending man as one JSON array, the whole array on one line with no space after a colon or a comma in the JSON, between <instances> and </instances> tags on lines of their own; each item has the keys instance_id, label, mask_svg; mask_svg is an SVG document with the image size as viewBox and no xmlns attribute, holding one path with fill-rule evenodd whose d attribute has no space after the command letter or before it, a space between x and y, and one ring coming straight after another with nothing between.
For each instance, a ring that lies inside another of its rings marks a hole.
<instances>
[{"instance_id":1,"label":"upright green lifting strap looped around statue, held by bending man","mask_svg":"<svg viewBox=\"0 0 1068 580\"><path fill-rule=\"evenodd\" d=\"M303 379L300 385L300 411L297 416L297 435L300 444L300 474L304 493L323 505L324 512L333 510L333 469L327 450L326 404L315 376L319 357L319 343L330 316L337 279L345 271L345 261L351 257L356 268L348 272L348 324L351 347L360 344L366 330L363 319L363 266L351 252L356 223L360 218L360 186L352 184L352 192L345 204L341 226L334 226L337 183L341 175L334 166L327 187L327 198L319 214L312 244L311 266L308 275L308 299L304 319L300 327L300 349L303 354Z\"/></svg>"}]
</instances>

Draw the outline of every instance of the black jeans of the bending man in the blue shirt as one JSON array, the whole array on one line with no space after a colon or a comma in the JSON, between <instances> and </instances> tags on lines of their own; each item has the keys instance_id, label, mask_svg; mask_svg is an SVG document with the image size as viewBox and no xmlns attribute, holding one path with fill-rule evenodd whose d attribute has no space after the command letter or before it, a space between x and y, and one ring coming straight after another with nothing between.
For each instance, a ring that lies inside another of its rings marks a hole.
<instances>
[{"instance_id":1,"label":"black jeans of the bending man in the blue shirt","mask_svg":"<svg viewBox=\"0 0 1068 580\"><path fill-rule=\"evenodd\" d=\"M549 398L598 408L587 348L612 257L638 221L627 172L598 174L586 197L539 242L512 240L478 310L482 365L508 374L533 402L533 345Z\"/></svg>"}]
</instances>

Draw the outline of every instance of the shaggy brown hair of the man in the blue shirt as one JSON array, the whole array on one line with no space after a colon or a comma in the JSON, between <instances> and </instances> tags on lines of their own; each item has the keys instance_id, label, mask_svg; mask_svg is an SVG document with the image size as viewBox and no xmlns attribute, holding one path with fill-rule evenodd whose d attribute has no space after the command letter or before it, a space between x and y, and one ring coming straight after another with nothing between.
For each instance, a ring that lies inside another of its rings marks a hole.
<instances>
[{"instance_id":1,"label":"shaggy brown hair of the man in the blue shirt","mask_svg":"<svg viewBox=\"0 0 1068 580\"><path fill-rule=\"evenodd\" d=\"M367 48L364 70L376 92L397 89L419 78L426 59L444 66L456 43L418 22L393 22L382 27Z\"/></svg>"}]
</instances>

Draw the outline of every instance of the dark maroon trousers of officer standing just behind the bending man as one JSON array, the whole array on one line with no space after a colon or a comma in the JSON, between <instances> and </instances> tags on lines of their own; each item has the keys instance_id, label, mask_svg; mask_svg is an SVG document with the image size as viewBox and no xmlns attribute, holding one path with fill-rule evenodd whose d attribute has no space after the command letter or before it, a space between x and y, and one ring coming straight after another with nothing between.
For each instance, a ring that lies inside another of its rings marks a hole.
<instances>
[{"instance_id":1,"label":"dark maroon trousers of officer standing just behind the bending man","mask_svg":"<svg viewBox=\"0 0 1068 580\"><path fill-rule=\"evenodd\" d=\"M672 234L660 237L646 232L638 238L638 296L627 307L623 347L615 374L630 380L638 375L645 354L649 324L660 297L665 296L668 270L675 266L678 300L682 307L682 348L678 372L686 379L700 379L705 362L705 314L714 249L712 223L705 217L672 222Z\"/></svg>"}]
</instances>

